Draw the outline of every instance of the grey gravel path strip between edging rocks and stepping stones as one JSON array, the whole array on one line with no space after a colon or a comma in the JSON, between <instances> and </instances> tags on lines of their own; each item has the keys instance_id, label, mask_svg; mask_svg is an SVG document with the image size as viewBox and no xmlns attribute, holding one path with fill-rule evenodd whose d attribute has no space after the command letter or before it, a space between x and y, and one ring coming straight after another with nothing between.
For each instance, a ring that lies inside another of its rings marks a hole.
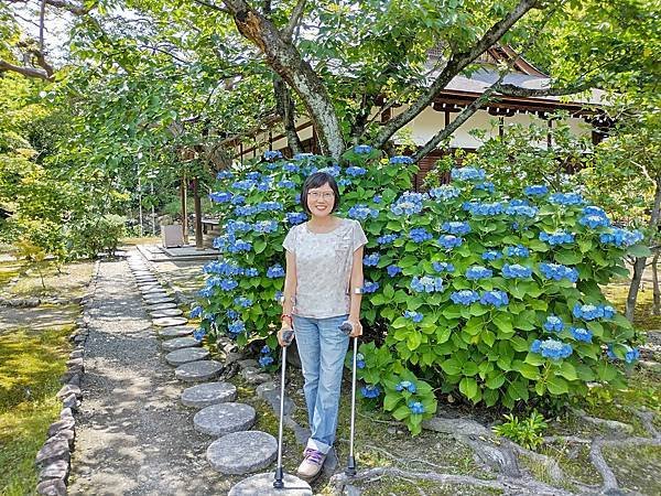
<instances>
[{"instance_id":1,"label":"grey gravel path strip between edging rocks and stepping stones","mask_svg":"<svg viewBox=\"0 0 661 496\"><path fill-rule=\"evenodd\" d=\"M184 386L160 357L126 261L100 267L86 344L72 495L226 494L205 460Z\"/></svg>"}]
</instances>

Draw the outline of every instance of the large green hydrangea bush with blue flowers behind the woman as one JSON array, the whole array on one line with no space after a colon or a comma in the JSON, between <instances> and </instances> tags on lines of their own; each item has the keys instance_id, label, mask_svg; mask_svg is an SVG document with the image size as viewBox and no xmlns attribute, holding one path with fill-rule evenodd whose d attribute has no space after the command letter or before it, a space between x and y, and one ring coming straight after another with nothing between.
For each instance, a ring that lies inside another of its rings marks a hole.
<instances>
[{"instance_id":1,"label":"large green hydrangea bush with blue flowers behind the woman","mask_svg":"<svg viewBox=\"0 0 661 496\"><path fill-rule=\"evenodd\" d=\"M193 310L198 336L266 342L262 362L272 364L282 240L306 219L304 179L325 170L339 185L338 215L358 219L369 239L362 320L371 339L358 360L368 401L418 433L436 409L434 389L511 409L532 397L585 395L592 381L624 384L617 362L638 357L636 334L599 284L627 274L622 257L641 249L640 233L543 184L506 197L484 170L463 168L451 184L413 193L408 157L360 145L343 159L267 152L218 174L210 198L225 234Z\"/></svg>"}]
</instances>

